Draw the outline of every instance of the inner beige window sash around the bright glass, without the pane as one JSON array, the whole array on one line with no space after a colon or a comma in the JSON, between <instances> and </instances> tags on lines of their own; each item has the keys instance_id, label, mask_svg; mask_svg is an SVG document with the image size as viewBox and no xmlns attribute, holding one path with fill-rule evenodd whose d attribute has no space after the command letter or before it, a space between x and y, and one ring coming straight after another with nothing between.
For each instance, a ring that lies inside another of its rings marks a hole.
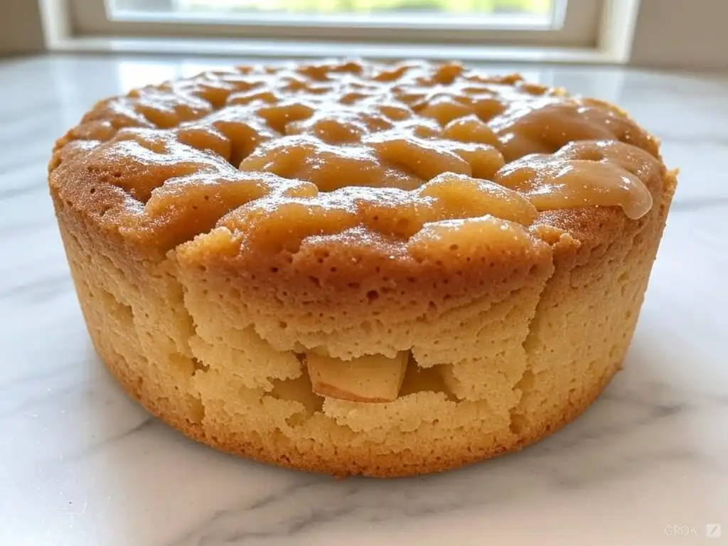
<instances>
[{"instance_id":1,"label":"inner beige window sash around the bright glass, without the pane","mask_svg":"<svg viewBox=\"0 0 728 546\"><path fill-rule=\"evenodd\" d=\"M200 15L179 17L159 13L149 17L128 15L122 19L107 14L103 0L68 0L76 32L86 36L136 36L147 38L201 39L306 39L331 41L371 41L408 44L462 43L520 46L593 47L605 0L560 0L564 4L555 18L558 28L504 28L494 22L454 25L430 21L412 26L405 17L326 16L285 17L256 14L245 23L226 23L221 17Z\"/></svg>"}]
</instances>

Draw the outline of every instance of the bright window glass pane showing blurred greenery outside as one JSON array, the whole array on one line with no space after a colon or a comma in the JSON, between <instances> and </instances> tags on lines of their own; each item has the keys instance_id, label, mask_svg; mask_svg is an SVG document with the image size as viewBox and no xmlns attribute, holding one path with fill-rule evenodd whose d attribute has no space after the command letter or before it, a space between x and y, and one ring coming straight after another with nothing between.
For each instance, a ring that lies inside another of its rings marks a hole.
<instances>
[{"instance_id":1,"label":"bright window glass pane showing blurred greenery outside","mask_svg":"<svg viewBox=\"0 0 728 546\"><path fill-rule=\"evenodd\" d=\"M432 22L494 25L500 28L549 28L564 0L107 0L112 18L220 20L246 22L287 16L352 22L396 20L413 26ZM558 4L558 6L557 6ZM559 9L556 9L556 8ZM347 19L349 20L349 19ZM342 23L345 24L345 23Z\"/></svg>"}]
</instances>

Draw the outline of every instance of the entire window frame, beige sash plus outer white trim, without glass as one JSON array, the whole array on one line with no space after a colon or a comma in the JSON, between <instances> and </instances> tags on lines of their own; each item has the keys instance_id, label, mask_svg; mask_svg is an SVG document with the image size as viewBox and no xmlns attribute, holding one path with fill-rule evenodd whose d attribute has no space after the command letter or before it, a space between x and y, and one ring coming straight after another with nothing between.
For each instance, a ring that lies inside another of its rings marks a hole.
<instances>
[{"instance_id":1,"label":"entire window frame, beige sash plus outer white trim, without glass","mask_svg":"<svg viewBox=\"0 0 728 546\"><path fill-rule=\"evenodd\" d=\"M596 9L581 35L569 36L569 26L579 17L571 12L570 19L567 7L561 29L428 28L423 39L420 28L391 25L349 25L341 32L336 25L327 30L320 24L178 23L164 17L119 21L106 16L103 0L39 0L47 49L55 52L616 64L629 59L640 1L571 0L571 9L587 4Z\"/></svg>"}]
</instances>

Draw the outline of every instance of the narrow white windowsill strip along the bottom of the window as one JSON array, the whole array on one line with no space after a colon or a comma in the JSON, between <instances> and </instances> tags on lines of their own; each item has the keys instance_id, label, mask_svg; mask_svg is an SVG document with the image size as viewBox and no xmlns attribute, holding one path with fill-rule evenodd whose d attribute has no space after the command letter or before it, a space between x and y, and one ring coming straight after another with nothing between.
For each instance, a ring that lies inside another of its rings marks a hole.
<instances>
[{"instance_id":1,"label":"narrow white windowsill strip along the bottom of the window","mask_svg":"<svg viewBox=\"0 0 728 546\"><path fill-rule=\"evenodd\" d=\"M54 40L52 52L115 52L259 58L422 58L510 63L619 63L609 50L568 47L499 47L461 44L365 44L331 41L74 37Z\"/></svg>"}]
</instances>

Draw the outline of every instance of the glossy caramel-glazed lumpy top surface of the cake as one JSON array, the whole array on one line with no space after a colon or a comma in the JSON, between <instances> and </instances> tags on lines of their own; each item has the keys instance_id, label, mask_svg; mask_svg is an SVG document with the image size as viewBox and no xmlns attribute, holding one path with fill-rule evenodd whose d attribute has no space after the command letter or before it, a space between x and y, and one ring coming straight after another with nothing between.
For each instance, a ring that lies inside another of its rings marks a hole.
<instances>
[{"instance_id":1,"label":"glossy caramel-glazed lumpy top surface of the cake","mask_svg":"<svg viewBox=\"0 0 728 546\"><path fill-rule=\"evenodd\" d=\"M662 168L654 139L602 101L456 63L352 61L241 66L103 100L56 144L50 183L162 254L200 234L274 253L310 237L441 238L471 218L528 228L552 210L635 220Z\"/></svg>"}]
</instances>

